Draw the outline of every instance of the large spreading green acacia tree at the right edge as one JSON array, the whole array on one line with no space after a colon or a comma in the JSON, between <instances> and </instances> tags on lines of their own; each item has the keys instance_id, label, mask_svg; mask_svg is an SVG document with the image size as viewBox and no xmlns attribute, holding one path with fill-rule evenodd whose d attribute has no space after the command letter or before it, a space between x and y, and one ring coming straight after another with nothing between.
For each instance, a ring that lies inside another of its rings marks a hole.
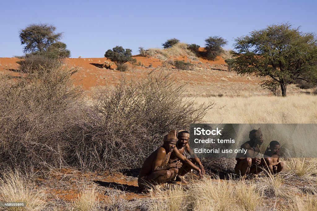
<instances>
[{"instance_id":1,"label":"large spreading green acacia tree at the right edge","mask_svg":"<svg viewBox=\"0 0 317 211\"><path fill-rule=\"evenodd\" d=\"M235 39L234 70L262 78L262 86L278 83L282 96L296 79L317 83L317 39L289 23L270 25Z\"/></svg>"}]
</instances>

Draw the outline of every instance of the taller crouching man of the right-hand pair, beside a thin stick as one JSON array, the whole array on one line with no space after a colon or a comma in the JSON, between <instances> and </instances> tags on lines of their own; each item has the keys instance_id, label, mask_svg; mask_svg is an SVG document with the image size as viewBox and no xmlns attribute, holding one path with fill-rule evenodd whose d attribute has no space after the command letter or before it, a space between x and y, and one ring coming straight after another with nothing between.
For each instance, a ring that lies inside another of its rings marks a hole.
<instances>
[{"instance_id":1,"label":"taller crouching man of the right-hand pair, beside a thin stick","mask_svg":"<svg viewBox=\"0 0 317 211\"><path fill-rule=\"evenodd\" d=\"M237 153L235 172L237 175L257 174L262 171L260 167L260 146L263 143L261 128L251 130L249 133L250 140L241 145L240 149L247 150L245 154Z\"/></svg>"}]
</instances>

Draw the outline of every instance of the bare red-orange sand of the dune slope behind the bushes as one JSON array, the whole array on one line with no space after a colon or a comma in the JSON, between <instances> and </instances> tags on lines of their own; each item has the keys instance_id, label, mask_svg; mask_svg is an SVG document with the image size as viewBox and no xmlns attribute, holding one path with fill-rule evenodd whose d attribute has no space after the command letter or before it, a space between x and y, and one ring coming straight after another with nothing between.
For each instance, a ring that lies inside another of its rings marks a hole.
<instances>
[{"instance_id":1,"label":"bare red-orange sand of the dune slope behind the bushes","mask_svg":"<svg viewBox=\"0 0 317 211\"><path fill-rule=\"evenodd\" d=\"M133 56L144 66L129 64L130 68L126 72L115 70L116 65L110 63L107 58L67 58L63 65L71 68L77 68L73 77L76 80L75 85L80 85L84 90L95 91L98 87L112 86L116 84L121 77L126 78L144 78L147 74L158 74L162 71L172 71L176 80L189 82L189 90L198 90L200 96L208 96L210 93L227 93L226 90L232 89L232 86L240 87L240 90L258 89L259 80L255 77L238 76L235 72L226 71L227 65L222 57L217 57L215 61L209 61L200 58L199 61L190 61L186 56L173 57L173 59L184 60L195 64L191 70L177 70L175 66L167 64L156 58ZM0 74L18 75L16 70L20 59L0 58ZM112 64L110 69L106 69L104 64ZM150 66L151 65L151 66ZM212 87L212 88L211 88ZM195 91L193 91L195 92ZM189 94L191 96L191 94ZM229 95L229 94L228 94Z\"/></svg>"}]
</instances>

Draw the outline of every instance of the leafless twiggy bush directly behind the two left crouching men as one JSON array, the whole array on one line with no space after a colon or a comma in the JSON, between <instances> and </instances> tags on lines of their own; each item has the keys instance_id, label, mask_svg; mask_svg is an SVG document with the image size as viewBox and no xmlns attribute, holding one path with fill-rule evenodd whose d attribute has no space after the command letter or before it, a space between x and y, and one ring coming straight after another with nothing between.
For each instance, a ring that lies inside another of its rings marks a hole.
<instances>
[{"instance_id":1,"label":"leafless twiggy bush directly behind the two left crouching men","mask_svg":"<svg viewBox=\"0 0 317 211\"><path fill-rule=\"evenodd\" d=\"M170 75L142 80L122 79L112 91L100 93L95 109L94 137L98 146L93 165L110 168L140 167L162 144L171 129L201 122L212 104L194 105L181 97L184 84Z\"/></svg>"}]
</instances>

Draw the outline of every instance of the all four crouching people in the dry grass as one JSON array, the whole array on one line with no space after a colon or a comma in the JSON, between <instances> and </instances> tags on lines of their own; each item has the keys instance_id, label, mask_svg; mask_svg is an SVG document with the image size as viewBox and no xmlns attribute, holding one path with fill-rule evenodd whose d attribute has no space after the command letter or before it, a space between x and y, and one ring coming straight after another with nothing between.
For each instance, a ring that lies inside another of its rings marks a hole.
<instances>
[{"instance_id":1,"label":"all four crouching people in the dry grass","mask_svg":"<svg viewBox=\"0 0 317 211\"><path fill-rule=\"evenodd\" d=\"M144 192L151 192L153 188L159 188L162 184L166 189L171 188L171 182L181 182L187 184L184 175L195 170L202 178L205 174L204 166L196 154L188 145L189 131L178 132L171 130L163 139L163 145L146 158L138 177L138 185ZM251 130L250 140L241 145L241 149L246 149L246 154L237 154L235 172L239 176L248 174L258 174L266 169L273 174L283 169L280 162L280 144L271 141L269 147L260 157L260 146L263 143L261 128ZM188 154L191 158L188 158Z\"/></svg>"}]
</instances>

